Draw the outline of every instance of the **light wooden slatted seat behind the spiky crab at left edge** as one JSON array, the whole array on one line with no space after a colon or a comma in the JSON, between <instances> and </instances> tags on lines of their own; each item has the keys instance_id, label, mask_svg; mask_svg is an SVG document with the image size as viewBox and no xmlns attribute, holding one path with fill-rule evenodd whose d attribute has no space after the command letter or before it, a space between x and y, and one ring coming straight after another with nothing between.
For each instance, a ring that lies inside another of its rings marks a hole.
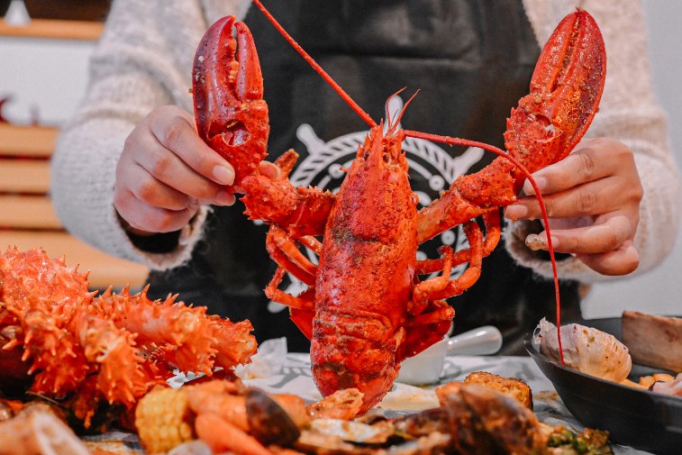
<instances>
[{"instance_id":1,"label":"light wooden slatted seat behind the spiky crab at left edge","mask_svg":"<svg viewBox=\"0 0 682 455\"><path fill-rule=\"evenodd\" d=\"M50 157L58 130L0 123L0 250L41 247L50 257L89 270L94 289L139 289L149 272L77 240L59 223L50 203Z\"/></svg>"}]
</instances>

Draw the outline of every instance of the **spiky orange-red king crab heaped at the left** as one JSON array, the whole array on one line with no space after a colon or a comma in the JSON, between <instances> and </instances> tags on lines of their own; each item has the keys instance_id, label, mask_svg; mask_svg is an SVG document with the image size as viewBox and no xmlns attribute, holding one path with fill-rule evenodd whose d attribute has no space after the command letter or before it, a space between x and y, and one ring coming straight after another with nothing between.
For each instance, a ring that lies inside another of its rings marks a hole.
<instances>
[{"instance_id":1,"label":"spiky orange-red king crab heaped at the left","mask_svg":"<svg viewBox=\"0 0 682 455\"><path fill-rule=\"evenodd\" d=\"M132 410L174 371L212 375L256 351L232 323L144 291L97 295L86 274L38 249L0 255L0 392L58 400L85 427L100 406Z\"/></svg>"}]
</instances>

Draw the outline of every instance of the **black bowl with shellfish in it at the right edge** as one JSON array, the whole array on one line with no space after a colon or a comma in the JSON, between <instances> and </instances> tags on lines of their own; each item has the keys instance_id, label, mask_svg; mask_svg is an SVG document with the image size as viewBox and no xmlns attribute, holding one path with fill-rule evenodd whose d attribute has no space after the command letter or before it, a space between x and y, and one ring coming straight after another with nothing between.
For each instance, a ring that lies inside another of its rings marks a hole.
<instances>
[{"instance_id":1,"label":"black bowl with shellfish in it at the right edge","mask_svg":"<svg viewBox=\"0 0 682 455\"><path fill-rule=\"evenodd\" d=\"M588 323L562 326L565 364L552 342L542 342L556 332L550 323L525 340L526 350L581 423L620 444L679 453L682 318L626 311Z\"/></svg>"}]
</instances>

